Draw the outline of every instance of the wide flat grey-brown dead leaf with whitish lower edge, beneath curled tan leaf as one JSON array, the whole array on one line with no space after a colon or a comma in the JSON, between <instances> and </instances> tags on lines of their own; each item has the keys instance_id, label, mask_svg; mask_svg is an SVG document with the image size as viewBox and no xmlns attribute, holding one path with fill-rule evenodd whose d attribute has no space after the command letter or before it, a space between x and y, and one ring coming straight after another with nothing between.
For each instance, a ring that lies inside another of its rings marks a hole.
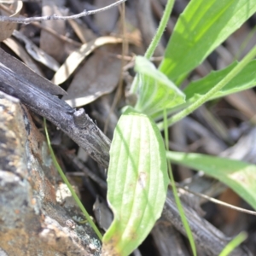
<instances>
[{"instance_id":1,"label":"wide flat grey-brown dead leaf with whitish lower edge, beneath curled tan leaf","mask_svg":"<svg viewBox=\"0 0 256 256\"><path fill-rule=\"evenodd\" d=\"M63 99L73 108L84 106L107 94L116 87L121 72L121 60L108 55L120 53L120 47L106 45L103 50L96 51L76 73L72 84Z\"/></svg>"}]
</instances>

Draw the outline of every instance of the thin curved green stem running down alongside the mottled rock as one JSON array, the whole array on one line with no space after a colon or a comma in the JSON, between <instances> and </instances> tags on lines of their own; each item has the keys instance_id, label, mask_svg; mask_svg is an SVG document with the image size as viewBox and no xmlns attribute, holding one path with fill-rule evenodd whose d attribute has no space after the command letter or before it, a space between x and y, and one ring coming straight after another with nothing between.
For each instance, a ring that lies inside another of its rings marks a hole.
<instances>
[{"instance_id":1,"label":"thin curved green stem running down alongside the mottled rock","mask_svg":"<svg viewBox=\"0 0 256 256\"><path fill-rule=\"evenodd\" d=\"M50 141L49 141L49 134L48 134L48 130L47 130L46 120L45 119L44 119L44 131L45 131L45 135L46 135L46 139L47 139L47 143L48 143L48 147L49 147L49 152L50 152L50 155L52 157L52 160L54 162L54 165L55 165L56 169L60 173L61 178L63 179L64 183L66 183L68 189L71 192L71 195L73 196L73 199L79 205L79 208L84 213L84 216L87 219L87 221L90 223L92 229L96 232L96 235L102 241L102 234L101 234L101 232L97 229L96 224L94 224L94 222L91 220L89 213L85 210L82 202L79 200L79 196L75 193L72 185L69 183L69 181L68 181L67 177L65 176L64 172L61 170L61 166L59 165L58 161L55 158L55 153L54 153L54 151L53 151L53 149L51 147Z\"/></svg>"}]
</instances>

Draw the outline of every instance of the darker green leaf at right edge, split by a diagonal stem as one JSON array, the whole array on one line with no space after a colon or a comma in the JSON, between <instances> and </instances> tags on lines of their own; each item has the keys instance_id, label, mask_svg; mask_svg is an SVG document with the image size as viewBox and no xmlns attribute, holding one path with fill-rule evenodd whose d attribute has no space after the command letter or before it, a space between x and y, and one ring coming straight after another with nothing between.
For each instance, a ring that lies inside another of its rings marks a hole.
<instances>
[{"instance_id":1,"label":"darker green leaf at right edge, split by a diagonal stem","mask_svg":"<svg viewBox=\"0 0 256 256\"><path fill-rule=\"evenodd\" d=\"M185 88L183 91L186 95L187 100L189 101L195 95L204 95L212 87L218 84L219 81L224 79L224 77L230 73L230 71L236 67L237 61L232 63L229 67L226 67L219 71L213 71L208 74L205 78L199 79L195 82L192 82ZM227 96L231 93L235 93L241 90L247 90L253 87L256 84L256 61L251 61L247 64L244 69L237 74L237 76L226 84L223 89L219 90L211 99Z\"/></svg>"}]
</instances>

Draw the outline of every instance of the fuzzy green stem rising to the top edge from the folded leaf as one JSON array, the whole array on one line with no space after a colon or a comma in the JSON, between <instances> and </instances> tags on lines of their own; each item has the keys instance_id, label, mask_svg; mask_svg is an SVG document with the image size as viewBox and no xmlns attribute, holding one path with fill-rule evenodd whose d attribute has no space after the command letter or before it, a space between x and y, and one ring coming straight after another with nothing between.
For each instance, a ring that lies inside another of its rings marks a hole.
<instances>
[{"instance_id":1,"label":"fuzzy green stem rising to the top edge from the folded leaf","mask_svg":"<svg viewBox=\"0 0 256 256\"><path fill-rule=\"evenodd\" d=\"M165 32L167 22L172 13L173 3L174 3L174 0L168 0L166 3L166 9L163 13L161 20L160 20L160 24L157 28L157 31L155 32L154 38L152 39L151 43L149 44L148 49L144 55L148 60L154 54L154 50L156 49L157 45L160 42L160 38L162 37L163 33ZM136 94L137 86L138 86L138 79L137 79L137 75L136 75L136 77L133 80L133 83L131 84L131 89L130 89L131 94Z\"/></svg>"}]
</instances>

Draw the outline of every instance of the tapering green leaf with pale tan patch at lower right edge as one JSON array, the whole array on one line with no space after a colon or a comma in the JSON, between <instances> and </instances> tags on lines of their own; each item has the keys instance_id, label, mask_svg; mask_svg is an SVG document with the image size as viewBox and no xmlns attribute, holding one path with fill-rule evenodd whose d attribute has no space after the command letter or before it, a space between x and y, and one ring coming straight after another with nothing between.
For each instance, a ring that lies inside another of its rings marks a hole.
<instances>
[{"instance_id":1,"label":"tapering green leaf with pale tan patch at lower right edge","mask_svg":"<svg viewBox=\"0 0 256 256\"><path fill-rule=\"evenodd\" d=\"M256 209L256 166L240 160L230 160L205 154L167 152L172 163L188 166L215 177L233 189Z\"/></svg>"}]
</instances>

